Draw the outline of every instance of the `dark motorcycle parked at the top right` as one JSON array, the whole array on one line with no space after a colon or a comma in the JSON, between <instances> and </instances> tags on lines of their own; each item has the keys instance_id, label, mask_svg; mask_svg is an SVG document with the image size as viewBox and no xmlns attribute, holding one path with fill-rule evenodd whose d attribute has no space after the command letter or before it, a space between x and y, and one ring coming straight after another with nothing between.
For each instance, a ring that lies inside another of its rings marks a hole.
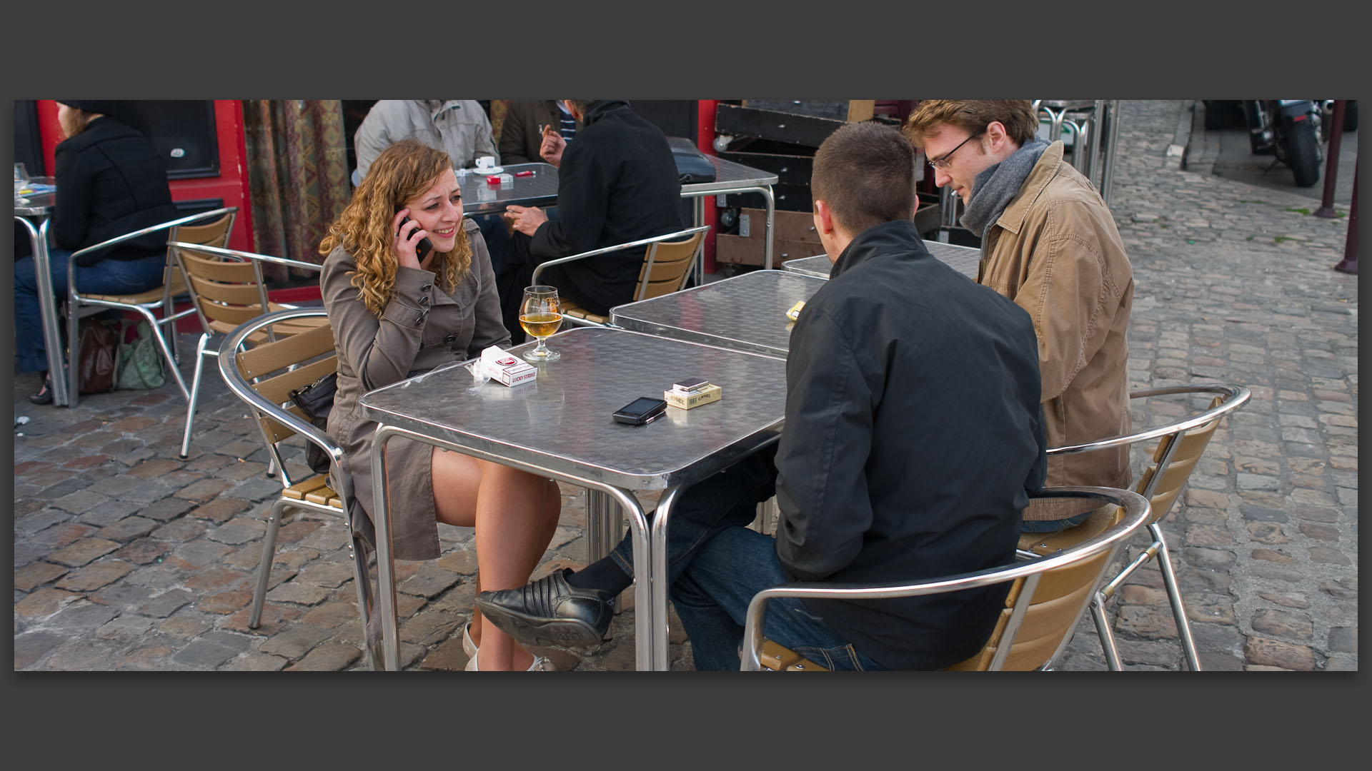
<instances>
[{"instance_id":1,"label":"dark motorcycle parked at the top right","mask_svg":"<svg viewBox=\"0 0 1372 771\"><path fill-rule=\"evenodd\" d=\"M1221 128L1224 111L1233 102L1206 100L1206 128ZM1239 102L1249 143L1257 155L1275 154L1291 169L1297 187L1320 181L1324 159L1321 103L1314 99L1250 99Z\"/></svg>"}]
</instances>

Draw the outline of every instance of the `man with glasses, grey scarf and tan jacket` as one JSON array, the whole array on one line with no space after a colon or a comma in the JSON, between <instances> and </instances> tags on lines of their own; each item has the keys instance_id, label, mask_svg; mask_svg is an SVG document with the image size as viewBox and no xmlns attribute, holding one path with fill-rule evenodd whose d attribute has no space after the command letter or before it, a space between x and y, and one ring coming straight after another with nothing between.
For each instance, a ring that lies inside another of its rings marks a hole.
<instances>
[{"instance_id":1,"label":"man with glasses, grey scarf and tan jacket","mask_svg":"<svg viewBox=\"0 0 1372 771\"><path fill-rule=\"evenodd\" d=\"M1129 432L1133 272L1095 185L1037 130L1028 100L925 100L906 123L934 182L962 198L962 224L981 236L977 281L1033 318L1048 447L1062 447ZM1128 447L1048 455L1050 486L1129 482ZM1089 513L1066 503L1030 506L1025 532Z\"/></svg>"}]
</instances>

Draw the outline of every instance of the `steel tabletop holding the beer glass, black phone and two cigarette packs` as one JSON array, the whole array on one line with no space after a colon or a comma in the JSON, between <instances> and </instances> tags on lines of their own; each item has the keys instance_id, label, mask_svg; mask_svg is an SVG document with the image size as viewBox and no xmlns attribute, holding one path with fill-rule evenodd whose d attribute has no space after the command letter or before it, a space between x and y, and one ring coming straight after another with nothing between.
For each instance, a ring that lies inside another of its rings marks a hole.
<instances>
[{"instance_id":1,"label":"steel tabletop holding the beer glass, black phone and two cigarette packs","mask_svg":"<svg viewBox=\"0 0 1372 771\"><path fill-rule=\"evenodd\" d=\"M512 350L528 347L532 343ZM554 335L547 347L563 357L535 365L532 383L477 384L468 366L457 365L368 392L362 414L627 490L704 479L781 431L781 359L589 327ZM611 418L635 398L661 398L674 381L691 376L720 386L724 398L691 410L668 409L642 427Z\"/></svg>"}]
</instances>

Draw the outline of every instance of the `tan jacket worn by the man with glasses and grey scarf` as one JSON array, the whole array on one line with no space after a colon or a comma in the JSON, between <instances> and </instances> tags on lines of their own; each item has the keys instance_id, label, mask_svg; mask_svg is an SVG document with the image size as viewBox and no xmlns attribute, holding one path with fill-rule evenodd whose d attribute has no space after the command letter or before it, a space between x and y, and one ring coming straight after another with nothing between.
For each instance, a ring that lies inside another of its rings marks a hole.
<instances>
[{"instance_id":1,"label":"tan jacket worn by the man with glasses and grey scarf","mask_svg":"<svg viewBox=\"0 0 1372 771\"><path fill-rule=\"evenodd\" d=\"M1052 143L986 233L977 281L1029 311L1039 335L1048 447L1129 432L1128 328L1133 270L1096 188ZM1128 488L1126 447L1048 455L1048 484ZM1032 505L1056 520L1091 503Z\"/></svg>"}]
</instances>

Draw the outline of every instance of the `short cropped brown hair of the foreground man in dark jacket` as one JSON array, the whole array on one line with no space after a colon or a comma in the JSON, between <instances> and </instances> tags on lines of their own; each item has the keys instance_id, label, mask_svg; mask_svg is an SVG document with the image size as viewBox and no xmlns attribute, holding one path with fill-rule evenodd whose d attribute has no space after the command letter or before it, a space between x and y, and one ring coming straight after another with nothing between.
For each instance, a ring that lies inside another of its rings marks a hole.
<instances>
[{"instance_id":1,"label":"short cropped brown hair of the foreground man in dark jacket","mask_svg":"<svg viewBox=\"0 0 1372 771\"><path fill-rule=\"evenodd\" d=\"M845 123L815 151L809 195L853 236L915 214L915 148L892 126Z\"/></svg>"}]
</instances>

